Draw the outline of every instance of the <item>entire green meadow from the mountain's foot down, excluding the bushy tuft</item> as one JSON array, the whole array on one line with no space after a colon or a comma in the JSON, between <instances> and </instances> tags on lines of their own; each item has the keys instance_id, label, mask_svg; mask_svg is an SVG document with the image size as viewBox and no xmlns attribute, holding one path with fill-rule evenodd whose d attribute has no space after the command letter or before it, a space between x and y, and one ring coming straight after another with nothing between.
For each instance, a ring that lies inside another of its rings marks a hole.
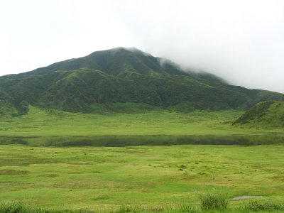
<instances>
[{"instance_id":1,"label":"entire green meadow from the mountain's foot down, excluding the bushy tuft","mask_svg":"<svg viewBox=\"0 0 284 213\"><path fill-rule=\"evenodd\" d=\"M208 195L223 212L284 211L283 129L232 126L242 113L2 115L0 212L200 212Z\"/></svg>"}]
</instances>

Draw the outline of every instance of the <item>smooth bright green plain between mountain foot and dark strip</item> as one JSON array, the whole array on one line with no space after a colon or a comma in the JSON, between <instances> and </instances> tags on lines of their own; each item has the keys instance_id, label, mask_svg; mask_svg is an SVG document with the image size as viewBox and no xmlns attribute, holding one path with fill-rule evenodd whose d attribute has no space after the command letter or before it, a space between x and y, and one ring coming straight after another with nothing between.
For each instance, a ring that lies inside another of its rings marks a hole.
<instances>
[{"instance_id":1,"label":"smooth bright green plain between mountain foot and dark strip","mask_svg":"<svg viewBox=\"0 0 284 213\"><path fill-rule=\"evenodd\" d=\"M30 107L28 114L1 118L1 136L129 136L236 133L219 126L241 115L240 111L179 113L153 110L138 114L80 114ZM239 130L244 132L244 130Z\"/></svg>"}]
</instances>

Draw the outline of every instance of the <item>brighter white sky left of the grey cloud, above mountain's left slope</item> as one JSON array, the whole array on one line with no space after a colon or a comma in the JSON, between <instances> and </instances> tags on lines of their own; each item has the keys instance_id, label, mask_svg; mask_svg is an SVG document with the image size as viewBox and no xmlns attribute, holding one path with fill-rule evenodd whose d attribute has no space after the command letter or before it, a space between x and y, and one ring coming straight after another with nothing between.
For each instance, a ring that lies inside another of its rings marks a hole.
<instances>
[{"instance_id":1,"label":"brighter white sky left of the grey cloud, above mountain's left slope","mask_svg":"<svg viewBox=\"0 0 284 213\"><path fill-rule=\"evenodd\" d=\"M129 45L113 1L0 1L0 74Z\"/></svg>"}]
</instances>

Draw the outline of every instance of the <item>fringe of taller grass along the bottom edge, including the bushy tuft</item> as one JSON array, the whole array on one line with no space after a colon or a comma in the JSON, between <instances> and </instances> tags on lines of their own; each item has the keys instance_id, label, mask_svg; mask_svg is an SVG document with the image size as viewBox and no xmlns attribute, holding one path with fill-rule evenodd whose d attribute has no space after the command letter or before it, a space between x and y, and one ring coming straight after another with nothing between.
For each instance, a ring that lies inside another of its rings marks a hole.
<instances>
[{"instance_id":1,"label":"fringe of taller grass along the bottom edge, including the bushy tuft","mask_svg":"<svg viewBox=\"0 0 284 213\"><path fill-rule=\"evenodd\" d=\"M224 200L225 198L225 200ZM209 199L210 202L204 202L204 199ZM214 200L214 201L213 201ZM213 201L213 202L212 202ZM126 213L126 212L190 212L190 213L209 213L209 212L223 212L223 213L246 213L246 212L283 212L283 204L267 203L257 200L252 200L241 204L239 207L228 208L228 198L224 195L208 194L202 197L200 207L192 206L189 204L171 205L168 207L152 206L121 206L119 209L113 209L108 212ZM38 207L26 206L21 203L3 203L0 204L0 213L94 213L106 211L94 211L89 209L43 209Z\"/></svg>"}]
</instances>

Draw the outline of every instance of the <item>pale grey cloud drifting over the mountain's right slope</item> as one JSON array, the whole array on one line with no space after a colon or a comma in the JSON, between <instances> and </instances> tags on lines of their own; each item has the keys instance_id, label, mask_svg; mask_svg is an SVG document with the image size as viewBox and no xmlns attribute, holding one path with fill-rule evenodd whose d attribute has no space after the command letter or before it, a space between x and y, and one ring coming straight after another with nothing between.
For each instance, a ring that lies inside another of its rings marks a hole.
<instances>
[{"instance_id":1,"label":"pale grey cloud drifting over the mountain's right slope","mask_svg":"<svg viewBox=\"0 0 284 213\"><path fill-rule=\"evenodd\" d=\"M283 1L122 1L116 13L146 52L284 92Z\"/></svg>"}]
</instances>

